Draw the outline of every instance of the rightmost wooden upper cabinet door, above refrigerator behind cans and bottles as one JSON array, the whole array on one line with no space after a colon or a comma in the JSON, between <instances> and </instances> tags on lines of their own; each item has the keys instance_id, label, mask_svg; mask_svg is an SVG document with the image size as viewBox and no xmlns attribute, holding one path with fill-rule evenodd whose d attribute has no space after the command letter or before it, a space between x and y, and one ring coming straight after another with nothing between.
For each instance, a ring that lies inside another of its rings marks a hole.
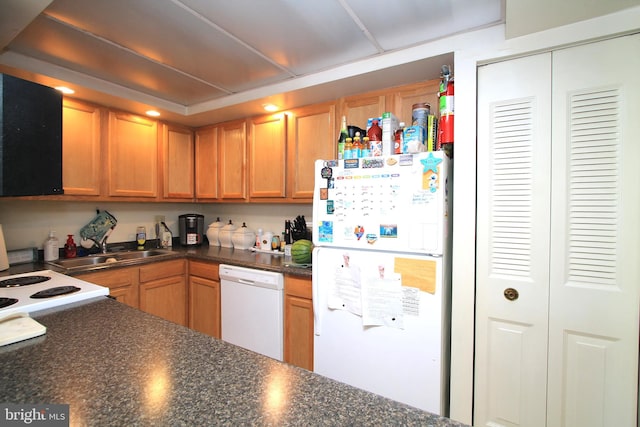
<instances>
[{"instance_id":1,"label":"rightmost wooden upper cabinet door, above refrigerator behind cans and bottles","mask_svg":"<svg viewBox=\"0 0 640 427\"><path fill-rule=\"evenodd\" d=\"M431 114L438 115L439 87L440 80L435 79L391 89L387 107L395 114L398 121L411 126L414 104L426 102L431 106Z\"/></svg>"}]
</instances>

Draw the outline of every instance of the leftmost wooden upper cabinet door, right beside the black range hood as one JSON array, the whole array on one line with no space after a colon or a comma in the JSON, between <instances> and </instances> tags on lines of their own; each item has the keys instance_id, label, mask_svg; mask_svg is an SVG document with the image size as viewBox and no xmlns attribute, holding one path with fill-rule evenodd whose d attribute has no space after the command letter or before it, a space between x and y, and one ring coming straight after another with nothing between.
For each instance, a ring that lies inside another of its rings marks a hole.
<instances>
[{"instance_id":1,"label":"leftmost wooden upper cabinet door, right beside the black range hood","mask_svg":"<svg viewBox=\"0 0 640 427\"><path fill-rule=\"evenodd\" d=\"M62 104L62 184L64 194L99 196L102 109L64 99Z\"/></svg>"}]
</instances>

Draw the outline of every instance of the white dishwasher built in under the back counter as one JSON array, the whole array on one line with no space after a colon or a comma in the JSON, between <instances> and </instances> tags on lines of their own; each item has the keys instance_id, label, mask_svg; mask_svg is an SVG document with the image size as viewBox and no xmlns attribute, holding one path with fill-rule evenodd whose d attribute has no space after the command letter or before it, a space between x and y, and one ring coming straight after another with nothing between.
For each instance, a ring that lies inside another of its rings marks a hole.
<instances>
[{"instance_id":1,"label":"white dishwasher built in under the back counter","mask_svg":"<svg viewBox=\"0 0 640 427\"><path fill-rule=\"evenodd\" d=\"M222 339L282 360L283 275L226 264L219 273Z\"/></svg>"}]
</instances>

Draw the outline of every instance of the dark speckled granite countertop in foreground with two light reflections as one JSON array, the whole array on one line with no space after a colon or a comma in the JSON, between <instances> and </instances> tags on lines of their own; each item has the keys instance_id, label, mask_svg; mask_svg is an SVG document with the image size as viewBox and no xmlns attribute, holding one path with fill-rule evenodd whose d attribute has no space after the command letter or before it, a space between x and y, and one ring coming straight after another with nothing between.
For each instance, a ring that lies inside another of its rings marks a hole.
<instances>
[{"instance_id":1,"label":"dark speckled granite countertop in foreground with two light reflections","mask_svg":"<svg viewBox=\"0 0 640 427\"><path fill-rule=\"evenodd\" d=\"M109 298L33 317L46 335L0 347L0 402L71 425L462 426Z\"/></svg>"}]
</instances>

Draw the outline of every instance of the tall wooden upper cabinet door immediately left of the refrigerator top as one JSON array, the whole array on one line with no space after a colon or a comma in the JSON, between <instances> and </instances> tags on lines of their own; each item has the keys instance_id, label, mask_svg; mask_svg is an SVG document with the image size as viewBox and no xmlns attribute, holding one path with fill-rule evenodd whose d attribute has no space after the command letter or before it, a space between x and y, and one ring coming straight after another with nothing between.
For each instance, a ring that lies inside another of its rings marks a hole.
<instances>
[{"instance_id":1,"label":"tall wooden upper cabinet door immediately left of the refrigerator top","mask_svg":"<svg viewBox=\"0 0 640 427\"><path fill-rule=\"evenodd\" d=\"M310 105L291 112L287 126L289 198L313 199L315 161L336 157L335 116L334 103Z\"/></svg>"}]
</instances>

